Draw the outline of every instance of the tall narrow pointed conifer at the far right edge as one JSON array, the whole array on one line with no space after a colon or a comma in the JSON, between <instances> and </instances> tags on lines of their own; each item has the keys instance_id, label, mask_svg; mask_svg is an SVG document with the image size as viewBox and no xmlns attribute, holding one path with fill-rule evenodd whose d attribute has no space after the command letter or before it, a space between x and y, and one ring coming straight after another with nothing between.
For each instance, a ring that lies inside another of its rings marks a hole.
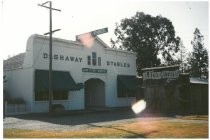
<instances>
[{"instance_id":1,"label":"tall narrow pointed conifer at the far right edge","mask_svg":"<svg viewBox=\"0 0 210 140\"><path fill-rule=\"evenodd\" d=\"M208 52L204 48L204 37L197 28L193 34L194 38L191 42L193 51L189 58L189 64L191 66L190 74L193 77L202 78L204 76L208 78Z\"/></svg>"}]
</instances>

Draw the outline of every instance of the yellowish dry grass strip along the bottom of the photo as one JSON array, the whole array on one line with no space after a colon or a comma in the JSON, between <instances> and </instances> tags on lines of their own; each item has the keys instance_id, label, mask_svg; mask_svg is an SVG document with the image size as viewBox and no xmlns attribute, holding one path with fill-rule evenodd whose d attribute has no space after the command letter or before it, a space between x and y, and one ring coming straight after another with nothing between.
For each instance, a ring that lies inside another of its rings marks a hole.
<instances>
[{"instance_id":1,"label":"yellowish dry grass strip along the bottom of the photo","mask_svg":"<svg viewBox=\"0 0 210 140\"><path fill-rule=\"evenodd\" d=\"M208 117L201 120L208 120ZM189 123L146 119L118 125L92 125L91 129L79 131L4 129L4 138L208 138L208 121Z\"/></svg>"}]
</instances>

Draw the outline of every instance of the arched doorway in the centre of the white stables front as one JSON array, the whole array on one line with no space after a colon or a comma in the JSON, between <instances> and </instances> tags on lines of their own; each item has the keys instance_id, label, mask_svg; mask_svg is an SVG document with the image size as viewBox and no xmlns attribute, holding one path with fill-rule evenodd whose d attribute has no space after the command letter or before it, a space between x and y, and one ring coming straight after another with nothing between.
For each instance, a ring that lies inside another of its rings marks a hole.
<instances>
[{"instance_id":1,"label":"arched doorway in the centre of the white stables front","mask_svg":"<svg viewBox=\"0 0 210 140\"><path fill-rule=\"evenodd\" d=\"M105 83L100 79L85 82L85 108L105 106Z\"/></svg>"}]
</instances>

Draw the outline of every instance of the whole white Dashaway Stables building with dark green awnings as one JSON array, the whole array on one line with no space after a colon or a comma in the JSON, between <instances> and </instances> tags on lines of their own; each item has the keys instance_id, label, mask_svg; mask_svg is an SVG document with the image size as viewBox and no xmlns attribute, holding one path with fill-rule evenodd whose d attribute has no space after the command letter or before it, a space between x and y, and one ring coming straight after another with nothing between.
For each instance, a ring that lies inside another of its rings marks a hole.
<instances>
[{"instance_id":1,"label":"whole white Dashaway Stables building with dark green awnings","mask_svg":"<svg viewBox=\"0 0 210 140\"><path fill-rule=\"evenodd\" d=\"M53 38L53 104L65 110L130 106L134 101L136 54L109 48L95 37L91 47ZM48 111L49 37L32 35L26 52L4 60L5 89L29 112ZM132 97L133 96L133 97Z\"/></svg>"}]
</instances>

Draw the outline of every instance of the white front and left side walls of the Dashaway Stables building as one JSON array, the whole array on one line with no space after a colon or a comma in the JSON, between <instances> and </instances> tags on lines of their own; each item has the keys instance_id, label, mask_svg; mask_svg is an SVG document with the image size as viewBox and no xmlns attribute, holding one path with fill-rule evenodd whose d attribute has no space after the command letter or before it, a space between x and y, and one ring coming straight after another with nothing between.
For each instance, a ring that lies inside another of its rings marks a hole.
<instances>
[{"instance_id":1,"label":"white front and left side walls of the Dashaway Stables building","mask_svg":"<svg viewBox=\"0 0 210 140\"><path fill-rule=\"evenodd\" d=\"M44 53L48 54L49 52L48 48L48 37L32 35L27 42L23 70L10 73L10 78L12 78L12 83L10 83L11 92L14 96L23 97L28 102L31 102L32 105L34 103L34 112L48 110L48 102L35 102L33 98L33 71L35 69L47 70L49 68L49 56L44 58ZM96 52L97 57L101 57L101 66L87 65L87 56L91 56L92 52ZM76 83L84 83L91 78L98 78L104 81L106 106L129 106L135 101L135 98L117 97L117 75L136 75L135 53L106 48L98 39L95 39L93 46L88 48L78 42L53 38L54 54L63 55L64 57L71 56L74 57L74 60L77 58L77 61L53 59L52 64L53 70L69 71ZM107 65L107 61L128 63L130 67ZM82 72L82 68L106 69L107 73L85 73ZM16 95L17 91L18 94ZM82 89L70 91L69 100L67 102L63 101L62 104L66 109L76 110L84 109L84 102L84 89Z\"/></svg>"}]
</instances>

